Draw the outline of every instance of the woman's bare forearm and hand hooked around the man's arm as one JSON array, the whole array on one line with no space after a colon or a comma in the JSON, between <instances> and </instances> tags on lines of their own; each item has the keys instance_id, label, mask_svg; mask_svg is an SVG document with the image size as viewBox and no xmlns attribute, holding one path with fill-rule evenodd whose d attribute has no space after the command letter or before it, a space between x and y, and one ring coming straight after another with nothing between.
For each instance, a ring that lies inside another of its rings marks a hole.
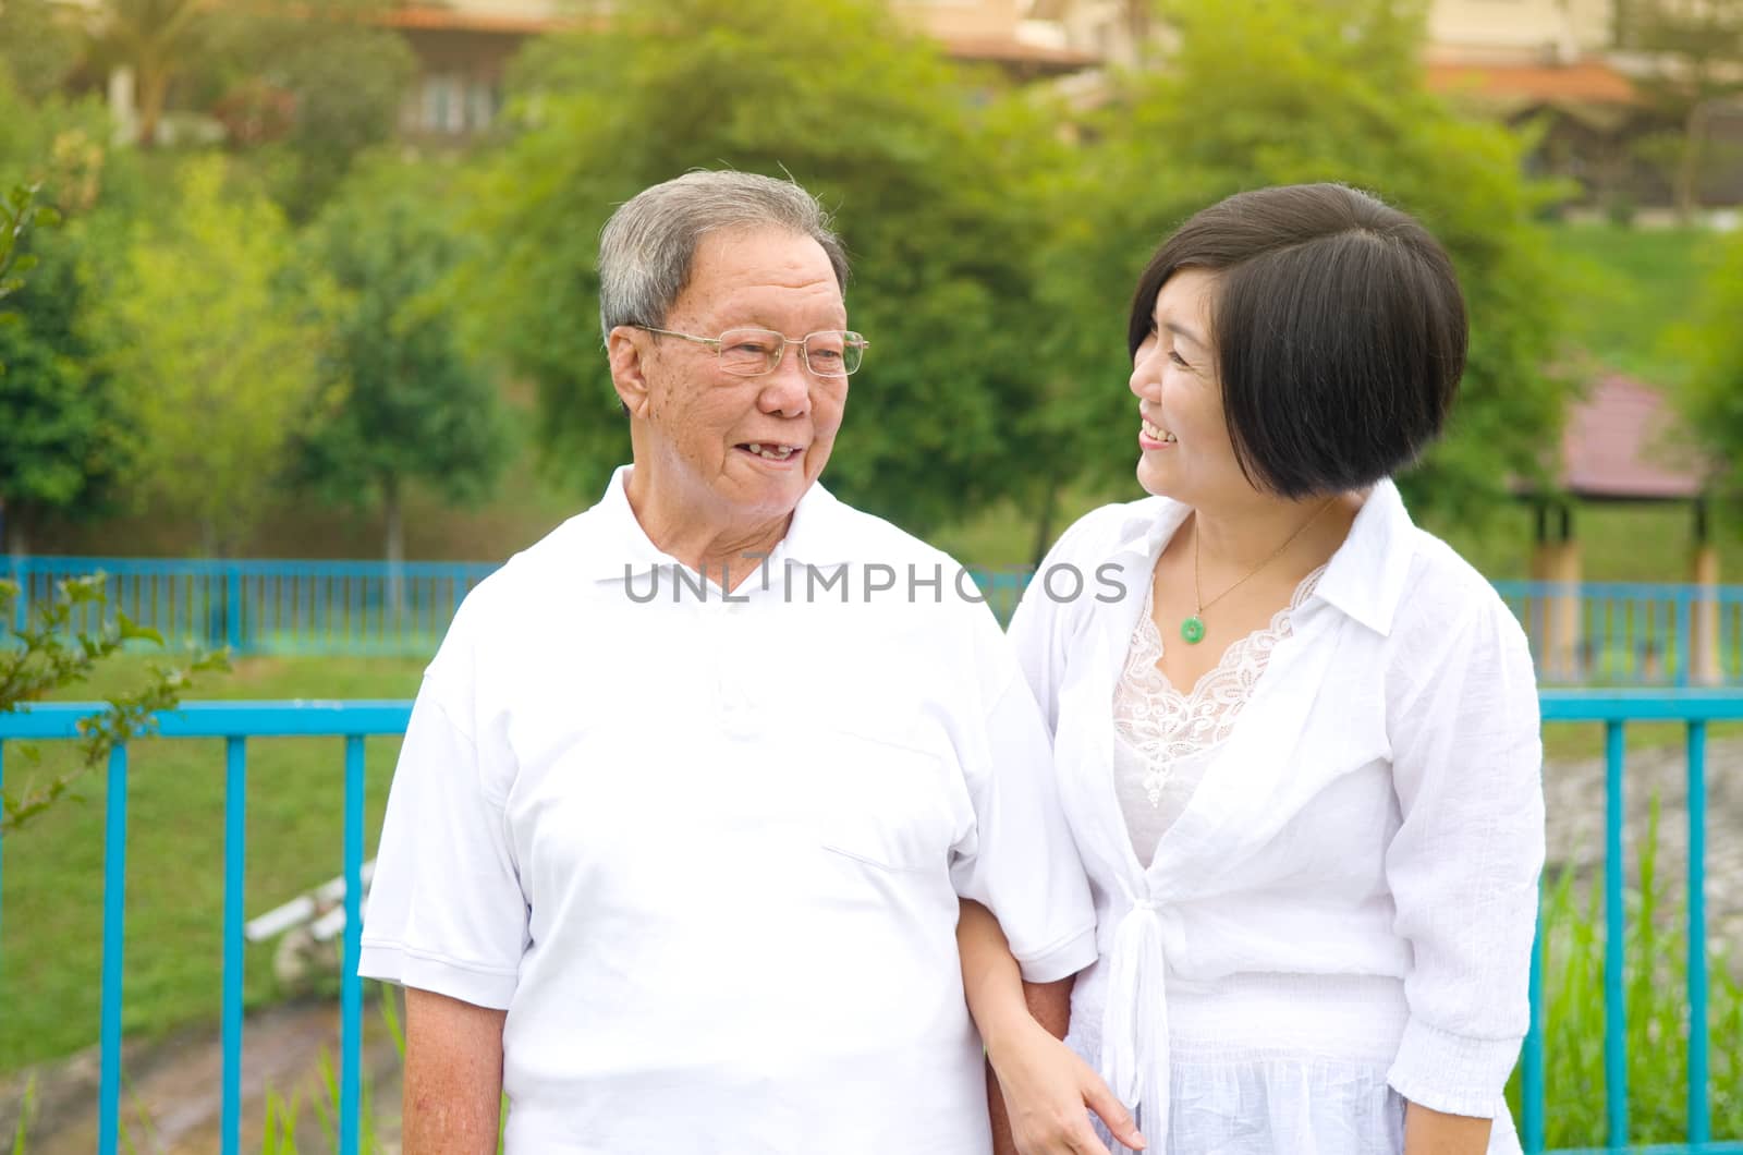
<instances>
[{"instance_id":1,"label":"woman's bare forearm and hand hooked around the man's arm","mask_svg":"<svg viewBox=\"0 0 1743 1155\"><path fill-rule=\"evenodd\" d=\"M957 949L962 991L992 1068L987 1099L995 1155L1107 1155L1084 1108L1121 1143L1142 1150L1143 1136L1126 1108L1060 1042L1070 1017L1070 979L1025 984L999 919L978 902L962 902Z\"/></svg>"}]
</instances>

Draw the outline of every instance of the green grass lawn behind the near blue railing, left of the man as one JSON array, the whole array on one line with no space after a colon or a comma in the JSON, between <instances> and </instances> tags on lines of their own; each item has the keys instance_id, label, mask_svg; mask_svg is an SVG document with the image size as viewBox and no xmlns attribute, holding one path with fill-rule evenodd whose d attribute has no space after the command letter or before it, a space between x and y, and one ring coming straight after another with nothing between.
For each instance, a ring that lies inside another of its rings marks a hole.
<instances>
[{"instance_id":1,"label":"green grass lawn behind the near blue railing, left of the man","mask_svg":"<svg viewBox=\"0 0 1743 1155\"><path fill-rule=\"evenodd\" d=\"M422 661L244 661L193 698L410 698ZM127 670L73 694L101 694ZM61 747L59 750L56 747ZM63 743L42 743L51 769ZM373 853L399 740L370 740L366 853ZM216 1022L223 928L221 742L141 742L127 799L129 1033ZM31 773L7 743L7 782ZM249 743L246 916L268 911L343 869L343 745L338 738ZM0 1070L68 1054L98 1038L103 942L103 782L5 841L0 874ZM249 947L246 1000L281 996L272 946Z\"/></svg>"}]
</instances>

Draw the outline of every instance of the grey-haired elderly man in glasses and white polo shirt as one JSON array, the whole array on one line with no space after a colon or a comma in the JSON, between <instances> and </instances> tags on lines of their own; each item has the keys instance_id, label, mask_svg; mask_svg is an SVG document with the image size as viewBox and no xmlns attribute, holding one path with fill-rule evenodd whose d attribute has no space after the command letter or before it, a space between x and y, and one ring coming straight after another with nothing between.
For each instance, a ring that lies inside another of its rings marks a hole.
<instances>
[{"instance_id":1,"label":"grey-haired elderly man in glasses and white polo shirt","mask_svg":"<svg viewBox=\"0 0 1743 1155\"><path fill-rule=\"evenodd\" d=\"M1035 984L1093 912L992 616L817 485L866 347L842 246L788 181L690 173L600 277L634 461L465 600L387 808L406 1150L493 1150L505 1092L509 1152L980 1155L959 900Z\"/></svg>"}]
</instances>

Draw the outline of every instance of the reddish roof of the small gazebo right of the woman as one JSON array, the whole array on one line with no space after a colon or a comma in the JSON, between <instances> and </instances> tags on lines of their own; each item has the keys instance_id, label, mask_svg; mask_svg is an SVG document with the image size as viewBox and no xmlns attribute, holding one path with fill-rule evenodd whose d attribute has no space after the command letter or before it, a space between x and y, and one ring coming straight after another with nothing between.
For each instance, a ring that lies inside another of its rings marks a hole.
<instances>
[{"instance_id":1,"label":"reddish roof of the small gazebo right of the woman","mask_svg":"<svg viewBox=\"0 0 1743 1155\"><path fill-rule=\"evenodd\" d=\"M1668 436L1675 426L1677 417L1658 389L1621 373L1600 379L1562 434L1562 487L1576 497L1699 495L1701 469L1672 457L1675 447Z\"/></svg>"}]
</instances>

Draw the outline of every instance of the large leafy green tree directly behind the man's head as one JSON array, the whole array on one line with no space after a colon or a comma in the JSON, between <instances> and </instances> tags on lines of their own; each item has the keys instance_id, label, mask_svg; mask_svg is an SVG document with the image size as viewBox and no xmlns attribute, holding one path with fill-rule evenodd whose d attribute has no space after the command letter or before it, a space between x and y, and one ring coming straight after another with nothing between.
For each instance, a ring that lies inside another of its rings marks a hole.
<instances>
[{"instance_id":1,"label":"large leafy green tree directly behind the man's head","mask_svg":"<svg viewBox=\"0 0 1743 1155\"><path fill-rule=\"evenodd\" d=\"M737 167L817 194L854 256L872 352L831 489L919 529L1032 489L1044 222L1013 190L1035 126L978 84L878 0L641 0L535 52L526 133L476 197L495 244L467 290L537 386L544 461L593 494L629 455L596 323L605 216L690 167Z\"/></svg>"}]
</instances>

